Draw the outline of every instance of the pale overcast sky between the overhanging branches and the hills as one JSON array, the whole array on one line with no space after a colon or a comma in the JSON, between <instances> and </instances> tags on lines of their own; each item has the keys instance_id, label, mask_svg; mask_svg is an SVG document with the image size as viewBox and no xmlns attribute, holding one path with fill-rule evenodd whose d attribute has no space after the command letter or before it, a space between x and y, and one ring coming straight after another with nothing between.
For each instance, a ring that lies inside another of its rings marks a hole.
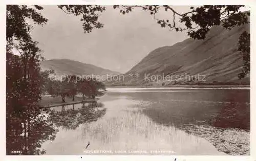
<instances>
[{"instance_id":1,"label":"pale overcast sky between the overhanging branches and the hills","mask_svg":"<svg viewBox=\"0 0 256 161\"><path fill-rule=\"evenodd\" d=\"M65 58L125 73L152 50L188 38L184 32L161 28L150 13L141 9L122 15L108 6L99 19L104 27L84 34L78 16L68 15L57 6L43 7L42 14L49 21L44 27L35 26L32 38L39 42L47 60ZM175 9L184 13L189 7ZM169 16L172 13L165 11L158 15Z\"/></svg>"}]
</instances>

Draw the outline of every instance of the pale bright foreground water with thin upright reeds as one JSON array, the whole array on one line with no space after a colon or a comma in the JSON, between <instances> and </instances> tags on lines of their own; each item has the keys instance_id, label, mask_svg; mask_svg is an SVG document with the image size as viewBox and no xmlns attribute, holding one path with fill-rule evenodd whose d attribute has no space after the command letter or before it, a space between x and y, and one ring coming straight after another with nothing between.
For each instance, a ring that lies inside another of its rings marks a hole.
<instances>
[{"instance_id":1,"label":"pale bright foreground water with thin upright reeds","mask_svg":"<svg viewBox=\"0 0 256 161\"><path fill-rule=\"evenodd\" d=\"M175 154L194 154L196 151L191 150L190 146L201 149L197 153L219 154L204 139L189 135L172 126L155 123L145 116L141 109L136 108L140 105L139 101L125 103L125 106L119 104L124 101L126 100L120 99L115 103L104 103L108 108L105 116L97 122L82 125L82 133L87 136L87 140L90 140L92 149L169 150ZM135 108L127 110L126 105Z\"/></svg>"}]
</instances>

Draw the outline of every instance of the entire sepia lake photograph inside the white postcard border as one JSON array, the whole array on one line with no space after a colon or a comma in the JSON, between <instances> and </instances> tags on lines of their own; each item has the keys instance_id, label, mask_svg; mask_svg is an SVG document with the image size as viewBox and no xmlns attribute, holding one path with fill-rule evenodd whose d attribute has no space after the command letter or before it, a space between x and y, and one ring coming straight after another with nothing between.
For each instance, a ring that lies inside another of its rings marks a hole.
<instances>
[{"instance_id":1,"label":"entire sepia lake photograph inside the white postcard border","mask_svg":"<svg viewBox=\"0 0 256 161\"><path fill-rule=\"evenodd\" d=\"M251 154L250 6L5 8L6 155Z\"/></svg>"}]
</instances>

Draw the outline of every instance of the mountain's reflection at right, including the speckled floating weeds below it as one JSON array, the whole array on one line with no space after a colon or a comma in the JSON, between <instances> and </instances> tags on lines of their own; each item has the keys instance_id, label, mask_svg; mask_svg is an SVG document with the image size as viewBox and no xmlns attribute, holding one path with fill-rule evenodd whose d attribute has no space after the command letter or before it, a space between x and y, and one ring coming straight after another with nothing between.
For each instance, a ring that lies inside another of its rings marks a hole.
<instances>
[{"instance_id":1,"label":"mountain's reflection at right, including the speckled floating weeds below it","mask_svg":"<svg viewBox=\"0 0 256 161\"><path fill-rule=\"evenodd\" d=\"M203 137L230 155L250 153L249 90L110 93L140 103L133 106L159 125Z\"/></svg>"}]
</instances>

